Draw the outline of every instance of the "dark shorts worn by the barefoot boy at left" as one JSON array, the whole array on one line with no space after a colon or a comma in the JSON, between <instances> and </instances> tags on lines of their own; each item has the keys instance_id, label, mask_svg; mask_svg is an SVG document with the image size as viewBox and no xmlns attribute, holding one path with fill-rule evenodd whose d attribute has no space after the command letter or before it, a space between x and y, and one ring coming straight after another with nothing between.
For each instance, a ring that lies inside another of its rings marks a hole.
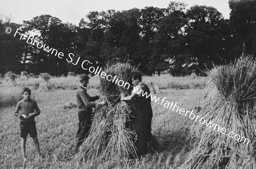
<instances>
[{"instance_id":1,"label":"dark shorts worn by the barefoot boy at left","mask_svg":"<svg viewBox=\"0 0 256 169\"><path fill-rule=\"evenodd\" d=\"M36 137L35 121L20 122L20 137Z\"/></svg>"}]
</instances>

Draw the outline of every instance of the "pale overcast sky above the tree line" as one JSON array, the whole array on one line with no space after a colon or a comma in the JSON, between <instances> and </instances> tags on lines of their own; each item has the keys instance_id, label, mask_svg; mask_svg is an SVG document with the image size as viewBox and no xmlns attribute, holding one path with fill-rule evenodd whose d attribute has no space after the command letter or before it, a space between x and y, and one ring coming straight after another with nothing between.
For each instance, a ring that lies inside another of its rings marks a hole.
<instances>
[{"instance_id":1,"label":"pale overcast sky above the tree line","mask_svg":"<svg viewBox=\"0 0 256 169\"><path fill-rule=\"evenodd\" d=\"M132 8L143 9L145 6L166 8L169 2L175 0L0 0L0 14L12 15L13 22L31 20L41 14L58 17L63 23L78 25L89 11L107 11L115 9L122 11ZM188 6L207 5L220 11L224 18L229 19L228 0L176 0Z\"/></svg>"}]
</instances>

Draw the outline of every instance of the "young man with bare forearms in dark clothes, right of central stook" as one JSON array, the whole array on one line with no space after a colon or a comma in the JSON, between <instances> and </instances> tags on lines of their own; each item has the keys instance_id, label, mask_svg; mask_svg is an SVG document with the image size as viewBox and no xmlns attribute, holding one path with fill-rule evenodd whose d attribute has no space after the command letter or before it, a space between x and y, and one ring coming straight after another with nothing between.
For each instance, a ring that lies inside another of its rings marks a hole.
<instances>
[{"instance_id":1,"label":"young man with bare forearms in dark clothes, right of central stook","mask_svg":"<svg viewBox=\"0 0 256 169\"><path fill-rule=\"evenodd\" d=\"M152 121L152 108L151 108L151 97L146 98L146 95L150 95L150 90L145 83L142 83L140 72L134 72L132 76L134 83L134 90L130 96L121 97L121 101L135 99L136 109L136 123L135 133L137 134L137 140L135 146L137 147L138 157L147 154L147 143L151 140L151 121ZM142 93L147 93L142 96Z\"/></svg>"}]
</instances>

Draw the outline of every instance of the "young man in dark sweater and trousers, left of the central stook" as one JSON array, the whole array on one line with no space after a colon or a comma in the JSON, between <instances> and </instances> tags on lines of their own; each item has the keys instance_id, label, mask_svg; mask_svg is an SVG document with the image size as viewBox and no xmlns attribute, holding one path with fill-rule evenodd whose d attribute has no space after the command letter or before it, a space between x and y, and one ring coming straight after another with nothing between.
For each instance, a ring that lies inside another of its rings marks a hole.
<instances>
[{"instance_id":1,"label":"young man in dark sweater and trousers, left of the central stook","mask_svg":"<svg viewBox=\"0 0 256 169\"><path fill-rule=\"evenodd\" d=\"M104 105L105 101L95 103L100 95L90 96L87 94L87 84L90 77L86 74L79 76L79 87L76 90L76 101L78 107L79 128L76 133L78 141L76 143L75 152L78 152L79 146L84 142L84 139L89 135L90 126L92 124L93 107Z\"/></svg>"}]
</instances>

